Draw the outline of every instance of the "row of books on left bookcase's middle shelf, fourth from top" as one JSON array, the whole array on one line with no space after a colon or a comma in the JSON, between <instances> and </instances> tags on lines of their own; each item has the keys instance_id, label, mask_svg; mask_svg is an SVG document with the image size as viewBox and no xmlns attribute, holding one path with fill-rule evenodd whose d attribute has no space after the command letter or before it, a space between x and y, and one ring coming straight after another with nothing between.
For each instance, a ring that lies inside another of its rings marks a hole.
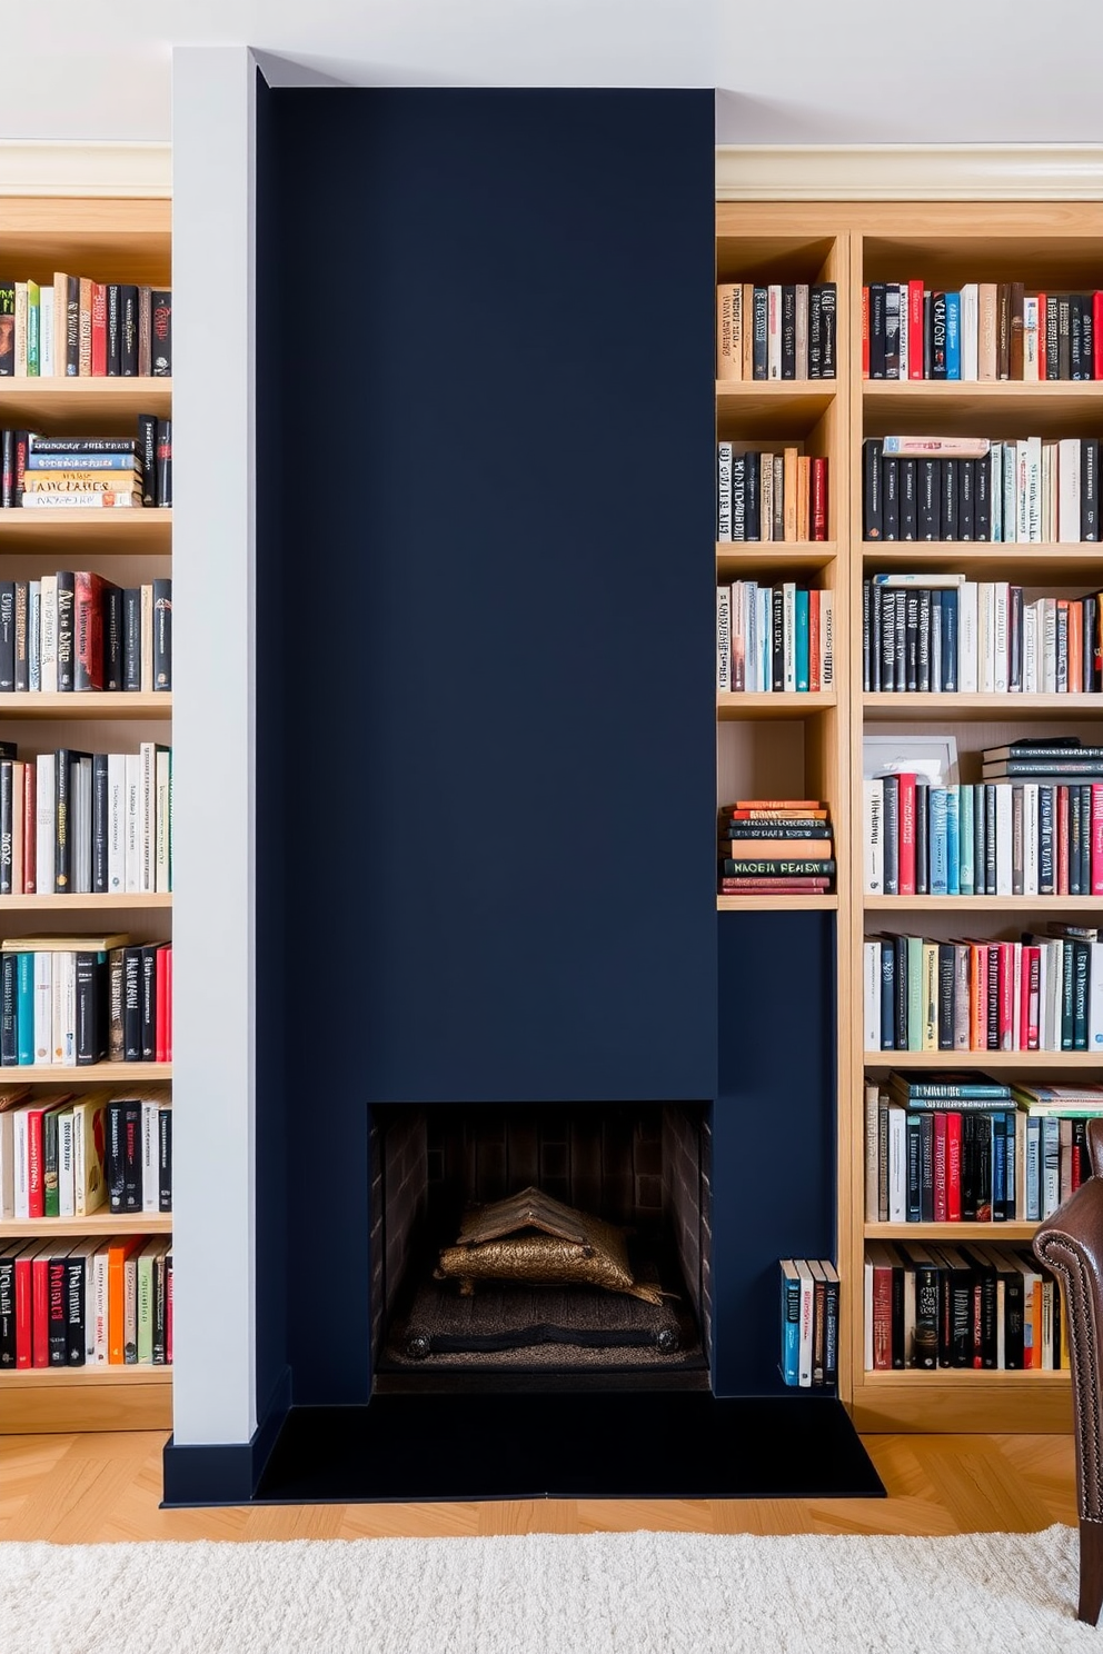
<instances>
[{"instance_id":1,"label":"row of books on left bookcase's middle shelf, fourth from top","mask_svg":"<svg viewBox=\"0 0 1103 1654\"><path fill-rule=\"evenodd\" d=\"M0 741L0 896L172 890L170 748L15 751Z\"/></svg>"}]
</instances>

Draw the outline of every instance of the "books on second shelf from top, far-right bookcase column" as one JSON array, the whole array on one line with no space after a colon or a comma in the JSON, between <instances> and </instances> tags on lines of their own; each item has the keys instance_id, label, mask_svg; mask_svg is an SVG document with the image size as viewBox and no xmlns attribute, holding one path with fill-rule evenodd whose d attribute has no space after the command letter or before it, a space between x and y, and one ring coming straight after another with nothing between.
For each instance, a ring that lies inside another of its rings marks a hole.
<instances>
[{"instance_id":1,"label":"books on second shelf from top, far-right bookcase column","mask_svg":"<svg viewBox=\"0 0 1103 1654\"><path fill-rule=\"evenodd\" d=\"M1080 544L1100 538L1100 438L868 437L862 534Z\"/></svg>"}]
</instances>

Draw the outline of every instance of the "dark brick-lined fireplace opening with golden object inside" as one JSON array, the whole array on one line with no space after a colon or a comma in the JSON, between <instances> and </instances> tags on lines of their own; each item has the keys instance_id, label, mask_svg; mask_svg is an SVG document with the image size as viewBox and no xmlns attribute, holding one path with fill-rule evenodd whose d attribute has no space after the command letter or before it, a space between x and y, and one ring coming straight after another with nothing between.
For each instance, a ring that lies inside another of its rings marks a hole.
<instances>
[{"instance_id":1,"label":"dark brick-lined fireplace opening with golden object inside","mask_svg":"<svg viewBox=\"0 0 1103 1654\"><path fill-rule=\"evenodd\" d=\"M706 1103L389 1105L369 1141L377 1391L709 1388ZM514 1216L489 1264L470 1250L473 1222L504 1232ZM537 1279L503 1279L518 1244ZM590 1274L579 1255L617 1287L561 1279Z\"/></svg>"}]
</instances>

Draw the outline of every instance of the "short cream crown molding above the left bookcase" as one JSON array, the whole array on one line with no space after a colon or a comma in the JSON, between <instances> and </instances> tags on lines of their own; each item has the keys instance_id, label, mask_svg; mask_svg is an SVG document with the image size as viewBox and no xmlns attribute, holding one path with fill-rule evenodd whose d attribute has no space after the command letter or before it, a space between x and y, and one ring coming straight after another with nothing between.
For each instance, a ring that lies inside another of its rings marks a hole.
<instances>
[{"instance_id":1,"label":"short cream crown molding above the left bookcase","mask_svg":"<svg viewBox=\"0 0 1103 1654\"><path fill-rule=\"evenodd\" d=\"M0 139L0 195L172 195L169 144Z\"/></svg>"}]
</instances>

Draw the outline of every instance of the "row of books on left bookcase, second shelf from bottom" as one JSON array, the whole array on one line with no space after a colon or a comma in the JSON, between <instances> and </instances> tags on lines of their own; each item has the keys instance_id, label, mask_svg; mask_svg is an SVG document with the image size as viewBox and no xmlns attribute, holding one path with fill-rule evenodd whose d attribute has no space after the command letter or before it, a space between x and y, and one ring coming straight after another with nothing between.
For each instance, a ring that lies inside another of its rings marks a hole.
<instances>
[{"instance_id":1,"label":"row of books on left bookcase, second shelf from bottom","mask_svg":"<svg viewBox=\"0 0 1103 1654\"><path fill-rule=\"evenodd\" d=\"M0 1217L172 1211L167 1088L131 1093L0 1088Z\"/></svg>"}]
</instances>

